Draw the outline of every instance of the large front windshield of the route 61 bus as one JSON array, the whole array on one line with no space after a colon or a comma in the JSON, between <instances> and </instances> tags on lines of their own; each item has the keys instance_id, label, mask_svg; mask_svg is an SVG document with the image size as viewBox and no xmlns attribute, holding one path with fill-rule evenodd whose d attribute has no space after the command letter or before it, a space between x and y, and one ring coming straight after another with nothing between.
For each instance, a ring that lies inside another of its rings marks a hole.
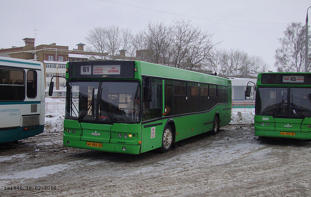
<instances>
[{"instance_id":1,"label":"large front windshield of the route 61 bus","mask_svg":"<svg viewBox=\"0 0 311 197\"><path fill-rule=\"evenodd\" d=\"M137 82L69 81L65 118L99 124L139 123L139 87Z\"/></svg>"}]
</instances>

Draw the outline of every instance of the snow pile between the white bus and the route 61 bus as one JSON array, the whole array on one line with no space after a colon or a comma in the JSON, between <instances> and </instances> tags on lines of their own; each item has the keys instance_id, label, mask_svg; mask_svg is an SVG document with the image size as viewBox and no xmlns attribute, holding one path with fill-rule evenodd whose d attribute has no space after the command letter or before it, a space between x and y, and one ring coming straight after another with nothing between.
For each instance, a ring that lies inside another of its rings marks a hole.
<instances>
[{"instance_id":1,"label":"snow pile between the white bus and the route 61 bus","mask_svg":"<svg viewBox=\"0 0 311 197\"><path fill-rule=\"evenodd\" d=\"M64 116L56 113L45 114L44 130L46 132L63 132Z\"/></svg>"}]
</instances>

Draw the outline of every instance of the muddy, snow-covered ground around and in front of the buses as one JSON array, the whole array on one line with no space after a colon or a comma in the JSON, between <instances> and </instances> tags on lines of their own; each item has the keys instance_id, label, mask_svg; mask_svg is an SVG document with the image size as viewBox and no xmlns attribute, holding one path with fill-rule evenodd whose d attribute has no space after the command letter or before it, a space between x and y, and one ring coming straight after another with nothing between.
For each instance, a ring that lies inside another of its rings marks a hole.
<instances>
[{"instance_id":1,"label":"muddy, snow-covered ground around and in front of the buses","mask_svg":"<svg viewBox=\"0 0 311 197\"><path fill-rule=\"evenodd\" d=\"M0 143L0 196L311 196L311 142L258 140L252 116L167 153L123 155L63 147L63 116L47 114L42 134Z\"/></svg>"}]
</instances>

